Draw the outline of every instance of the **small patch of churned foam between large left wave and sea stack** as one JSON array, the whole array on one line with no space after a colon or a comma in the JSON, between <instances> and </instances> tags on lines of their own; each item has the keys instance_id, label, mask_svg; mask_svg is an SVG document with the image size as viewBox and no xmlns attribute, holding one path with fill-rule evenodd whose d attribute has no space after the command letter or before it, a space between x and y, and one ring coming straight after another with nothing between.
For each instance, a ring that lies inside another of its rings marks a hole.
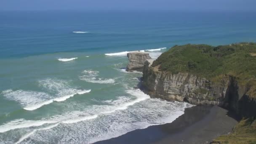
<instances>
[{"instance_id":1,"label":"small patch of churned foam between large left wave and sea stack","mask_svg":"<svg viewBox=\"0 0 256 144\"><path fill-rule=\"evenodd\" d=\"M84 70L83 74L80 76L80 80L85 80L88 83L101 83L101 84L107 84L107 83L115 83L114 79L107 79L107 78L98 78L98 71L92 71L92 70Z\"/></svg>"}]
</instances>

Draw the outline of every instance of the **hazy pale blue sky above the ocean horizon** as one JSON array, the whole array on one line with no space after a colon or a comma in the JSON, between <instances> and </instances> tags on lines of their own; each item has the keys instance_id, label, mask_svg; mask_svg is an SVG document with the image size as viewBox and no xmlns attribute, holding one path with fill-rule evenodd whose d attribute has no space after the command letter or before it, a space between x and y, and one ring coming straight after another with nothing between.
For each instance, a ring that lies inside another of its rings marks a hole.
<instances>
[{"instance_id":1,"label":"hazy pale blue sky above the ocean horizon","mask_svg":"<svg viewBox=\"0 0 256 144\"><path fill-rule=\"evenodd\" d=\"M256 11L256 0L0 0L0 11Z\"/></svg>"}]
</instances>

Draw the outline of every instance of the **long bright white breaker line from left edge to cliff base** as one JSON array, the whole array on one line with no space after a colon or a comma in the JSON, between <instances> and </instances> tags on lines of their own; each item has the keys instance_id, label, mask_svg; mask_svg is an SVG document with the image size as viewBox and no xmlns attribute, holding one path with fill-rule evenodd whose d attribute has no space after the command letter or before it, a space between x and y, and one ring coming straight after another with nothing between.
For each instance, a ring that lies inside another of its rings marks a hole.
<instances>
[{"instance_id":1,"label":"long bright white breaker line from left edge to cliff base","mask_svg":"<svg viewBox=\"0 0 256 144\"><path fill-rule=\"evenodd\" d=\"M108 113L115 112L117 110L124 110L133 104L136 104L140 101L149 99L149 95L143 93L139 89L127 90L126 93L129 93L132 96L135 96L136 99L131 100L126 97L120 97L120 99L117 99L115 101L106 101L109 104L113 104L113 105L100 105L98 107L98 110L95 111L95 114L90 115L90 116L80 117L80 115L83 115L83 112L78 112L78 113L72 112L72 114L69 114L69 113L66 114L67 116L60 115L60 116L56 116L56 117L53 117L48 120L36 120L36 121L35 120L24 120L24 119L12 120L9 123L0 125L0 133L10 131L13 129L18 129L18 128L29 128L29 127L33 127L33 126L41 126L44 124L51 124L51 123L66 123L66 124L68 124L68 123L77 123L77 122L85 121L85 120L91 120L91 119L95 119L100 114L108 114ZM123 103L123 101L125 101L125 102ZM95 108L97 108L97 107L92 107L92 109L89 111L92 111Z\"/></svg>"}]
</instances>

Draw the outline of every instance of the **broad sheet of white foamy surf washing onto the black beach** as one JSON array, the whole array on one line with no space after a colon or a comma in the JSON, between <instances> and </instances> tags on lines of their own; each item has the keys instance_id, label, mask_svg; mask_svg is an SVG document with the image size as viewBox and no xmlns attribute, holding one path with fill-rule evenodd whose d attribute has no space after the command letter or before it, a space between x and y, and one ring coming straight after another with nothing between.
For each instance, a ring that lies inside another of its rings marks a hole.
<instances>
[{"instance_id":1,"label":"broad sheet of white foamy surf washing onto the black beach","mask_svg":"<svg viewBox=\"0 0 256 144\"><path fill-rule=\"evenodd\" d=\"M26 140L28 143L47 143L53 138L58 138L55 142L89 144L121 136L136 129L147 128L150 125L171 123L184 113L186 107L193 106L183 102L149 99L149 96L139 89L128 89L125 92L125 96L119 96L117 99L98 101L102 105L85 107L83 112L67 112L37 121L24 119L19 120L20 122L11 121L0 125L0 132L16 129L15 132L23 133L23 136L13 135L16 137L11 141L19 139L18 142ZM52 128L55 129L50 130Z\"/></svg>"}]
</instances>

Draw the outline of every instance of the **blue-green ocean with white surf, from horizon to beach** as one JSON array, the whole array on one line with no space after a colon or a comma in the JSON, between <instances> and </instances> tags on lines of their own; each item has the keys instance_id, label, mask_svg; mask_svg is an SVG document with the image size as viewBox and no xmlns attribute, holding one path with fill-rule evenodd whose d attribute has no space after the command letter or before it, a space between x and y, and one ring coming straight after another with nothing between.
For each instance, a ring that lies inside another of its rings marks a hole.
<instances>
[{"instance_id":1,"label":"blue-green ocean with white surf, from horizon to beach","mask_svg":"<svg viewBox=\"0 0 256 144\"><path fill-rule=\"evenodd\" d=\"M193 105L134 89L126 53L256 42L256 13L0 12L0 144L91 144Z\"/></svg>"}]
</instances>

